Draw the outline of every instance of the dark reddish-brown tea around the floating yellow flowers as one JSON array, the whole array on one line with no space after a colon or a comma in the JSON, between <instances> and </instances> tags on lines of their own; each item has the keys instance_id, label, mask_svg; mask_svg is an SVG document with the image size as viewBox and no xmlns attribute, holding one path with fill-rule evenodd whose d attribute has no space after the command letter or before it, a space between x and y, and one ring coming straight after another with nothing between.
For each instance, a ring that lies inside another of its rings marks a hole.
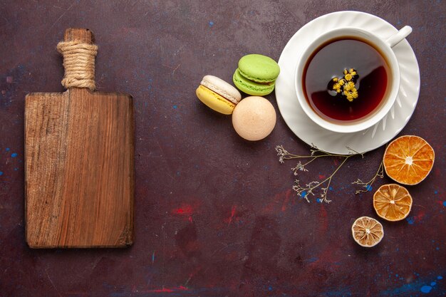
<instances>
[{"instance_id":1,"label":"dark reddish-brown tea around the floating yellow flowers","mask_svg":"<svg viewBox=\"0 0 446 297\"><path fill-rule=\"evenodd\" d=\"M343 70L358 72L358 98L353 102L328 93L328 83L342 78ZM314 51L304 68L302 85L306 100L323 119L332 123L365 120L383 104L390 84L390 70L380 52L356 37L327 41Z\"/></svg>"}]
</instances>

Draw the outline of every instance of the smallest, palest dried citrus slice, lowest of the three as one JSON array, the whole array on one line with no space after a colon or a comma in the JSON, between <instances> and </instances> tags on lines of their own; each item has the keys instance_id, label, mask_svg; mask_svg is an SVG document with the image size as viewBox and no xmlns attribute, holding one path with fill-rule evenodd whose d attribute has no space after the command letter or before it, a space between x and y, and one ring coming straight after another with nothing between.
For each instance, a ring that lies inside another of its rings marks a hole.
<instances>
[{"instance_id":1,"label":"smallest, palest dried citrus slice, lowest of the three","mask_svg":"<svg viewBox=\"0 0 446 297\"><path fill-rule=\"evenodd\" d=\"M360 245L372 247L384 237L383 225L370 217L360 217L351 226L353 239Z\"/></svg>"}]
</instances>

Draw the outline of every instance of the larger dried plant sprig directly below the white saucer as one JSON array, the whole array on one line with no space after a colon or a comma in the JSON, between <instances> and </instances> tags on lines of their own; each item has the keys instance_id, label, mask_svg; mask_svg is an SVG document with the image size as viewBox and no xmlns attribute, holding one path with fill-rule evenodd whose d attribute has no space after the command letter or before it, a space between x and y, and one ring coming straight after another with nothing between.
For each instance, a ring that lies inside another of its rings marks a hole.
<instances>
[{"instance_id":1,"label":"larger dried plant sprig directly below the white saucer","mask_svg":"<svg viewBox=\"0 0 446 297\"><path fill-rule=\"evenodd\" d=\"M293 186L294 191L296 191L299 196L305 198L307 202L310 202L310 200L308 199L308 195L311 194L312 196L314 196L315 190L317 188L320 188L321 193L320 193L320 198L318 198L318 202L330 203L331 200L327 199L327 192L328 189L330 189L331 179L333 179L333 176L336 174L336 172L338 172L339 169L341 169L341 167L349 158L357 155L361 155L361 157L364 157L363 153L356 152L356 150L353 150L350 147L347 148L349 151L348 155L331 154L330 152L324 152L323 150L319 150L318 147L316 147L316 145L313 144L311 144L311 149L310 149L311 155L304 155L304 156L294 155L285 150L284 147L281 145L276 146L276 152L277 155L279 156L279 162L281 163L284 163L284 160L291 160L291 159L310 159L305 164L302 164L301 161L299 161L296 167L291 168L291 170L294 172L294 175L298 175L299 174L298 171L303 171L303 172L308 171L305 166L316 160L318 157L342 157L343 161L341 162L341 164L338 165L336 170L334 170L333 173L329 177L324 179L322 182L313 181L309 182L308 184L305 184L305 186L302 186L300 184L299 179L296 179L294 181L294 186ZM326 187L321 187L323 184L326 184Z\"/></svg>"}]
</instances>

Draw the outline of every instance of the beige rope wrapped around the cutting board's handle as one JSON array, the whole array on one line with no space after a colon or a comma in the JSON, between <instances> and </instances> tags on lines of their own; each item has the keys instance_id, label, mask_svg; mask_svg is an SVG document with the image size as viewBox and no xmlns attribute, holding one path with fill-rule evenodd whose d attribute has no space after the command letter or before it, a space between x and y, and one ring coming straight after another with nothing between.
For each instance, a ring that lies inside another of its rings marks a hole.
<instances>
[{"instance_id":1,"label":"beige rope wrapped around the cutting board's handle","mask_svg":"<svg viewBox=\"0 0 446 297\"><path fill-rule=\"evenodd\" d=\"M63 56L62 85L65 88L89 88L95 90L95 56L98 46L80 41L61 41L57 50Z\"/></svg>"}]
</instances>

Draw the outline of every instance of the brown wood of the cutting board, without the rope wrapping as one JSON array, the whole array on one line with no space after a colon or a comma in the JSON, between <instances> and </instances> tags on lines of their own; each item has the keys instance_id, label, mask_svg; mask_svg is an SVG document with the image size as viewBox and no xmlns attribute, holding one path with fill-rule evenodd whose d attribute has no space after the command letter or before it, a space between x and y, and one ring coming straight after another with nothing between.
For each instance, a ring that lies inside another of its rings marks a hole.
<instances>
[{"instance_id":1,"label":"brown wood of the cutting board, without the rope wrapping","mask_svg":"<svg viewBox=\"0 0 446 297\"><path fill-rule=\"evenodd\" d=\"M93 43L88 29L65 41ZM31 248L133 243L133 98L68 88L25 100L25 219Z\"/></svg>"}]
</instances>

